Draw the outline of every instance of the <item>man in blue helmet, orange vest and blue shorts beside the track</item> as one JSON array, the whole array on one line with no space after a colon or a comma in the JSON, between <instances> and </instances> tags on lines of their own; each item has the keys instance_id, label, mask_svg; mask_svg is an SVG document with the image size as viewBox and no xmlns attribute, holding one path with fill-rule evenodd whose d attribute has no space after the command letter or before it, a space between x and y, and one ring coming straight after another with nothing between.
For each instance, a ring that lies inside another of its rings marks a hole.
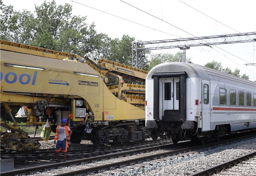
<instances>
[{"instance_id":1,"label":"man in blue helmet, orange vest and blue shorts beside the track","mask_svg":"<svg viewBox=\"0 0 256 176\"><path fill-rule=\"evenodd\" d=\"M60 162L60 150L64 154L64 161L67 159L67 150L68 150L68 140L70 140L70 136L72 134L71 129L66 126L67 119L61 120L61 125L56 128L56 133L54 137L54 144L56 143L56 155L57 162Z\"/></svg>"}]
</instances>

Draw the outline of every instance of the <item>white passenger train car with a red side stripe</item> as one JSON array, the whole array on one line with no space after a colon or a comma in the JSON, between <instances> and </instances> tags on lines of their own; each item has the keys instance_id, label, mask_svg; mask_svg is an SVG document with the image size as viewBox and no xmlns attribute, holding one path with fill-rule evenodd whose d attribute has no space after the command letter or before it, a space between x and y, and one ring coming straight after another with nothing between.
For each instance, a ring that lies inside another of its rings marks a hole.
<instances>
[{"instance_id":1,"label":"white passenger train car with a red side stripe","mask_svg":"<svg viewBox=\"0 0 256 176\"><path fill-rule=\"evenodd\" d=\"M193 63L162 63L147 75L145 113L152 138L218 140L256 129L256 83Z\"/></svg>"}]
</instances>

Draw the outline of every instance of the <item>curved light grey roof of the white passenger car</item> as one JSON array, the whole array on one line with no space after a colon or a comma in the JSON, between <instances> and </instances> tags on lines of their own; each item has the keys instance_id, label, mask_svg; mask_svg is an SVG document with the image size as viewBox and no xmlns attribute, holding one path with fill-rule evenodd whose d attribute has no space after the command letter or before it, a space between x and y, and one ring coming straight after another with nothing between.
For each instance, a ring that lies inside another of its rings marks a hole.
<instances>
[{"instance_id":1,"label":"curved light grey roof of the white passenger car","mask_svg":"<svg viewBox=\"0 0 256 176\"><path fill-rule=\"evenodd\" d=\"M152 79L153 73L156 72L174 72L174 71L186 71L188 77L198 77L203 79L216 80L218 82L234 82L249 84L255 86L256 83L250 80L246 80L240 77L236 77L227 73L223 73L217 70L210 69L194 63L184 63L184 62L165 62L153 67L147 75L147 80Z\"/></svg>"}]
</instances>

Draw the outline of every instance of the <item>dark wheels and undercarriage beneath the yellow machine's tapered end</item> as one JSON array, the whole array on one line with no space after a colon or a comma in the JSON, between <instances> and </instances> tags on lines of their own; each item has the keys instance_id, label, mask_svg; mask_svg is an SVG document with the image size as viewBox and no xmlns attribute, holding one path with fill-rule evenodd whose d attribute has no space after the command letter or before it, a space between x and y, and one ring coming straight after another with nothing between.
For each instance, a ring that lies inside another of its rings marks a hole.
<instances>
[{"instance_id":1,"label":"dark wheels and undercarriage beneath the yellow machine's tapered end","mask_svg":"<svg viewBox=\"0 0 256 176\"><path fill-rule=\"evenodd\" d=\"M86 123L89 123L88 121ZM85 128L84 128L85 127ZM126 121L110 122L108 125L92 124L91 130L88 125L77 125L71 127L73 135L71 143L80 143L81 140L91 140L93 144L124 142L124 141L141 141L150 137L150 133L145 128L145 121ZM89 131L89 133L88 133Z\"/></svg>"}]
</instances>

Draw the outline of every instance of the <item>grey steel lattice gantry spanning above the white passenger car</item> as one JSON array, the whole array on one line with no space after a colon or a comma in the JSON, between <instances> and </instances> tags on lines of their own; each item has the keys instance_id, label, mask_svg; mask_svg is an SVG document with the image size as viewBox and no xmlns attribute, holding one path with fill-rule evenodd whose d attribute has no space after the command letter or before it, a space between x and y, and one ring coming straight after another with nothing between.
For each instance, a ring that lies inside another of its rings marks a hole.
<instances>
[{"instance_id":1,"label":"grey steel lattice gantry spanning above the white passenger car","mask_svg":"<svg viewBox=\"0 0 256 176\"><path fill-rule=\"evenodd\" d=\"M256 32L132 42L132 66L142 68L142 59L140 55L142 55L141 51L143 49L156 50L180 48L183 50L183 59L184 62L186 62L186 49L189 49L190 47L247 43L253 41L256 41Z\"/></svg>"}]
</instances>

